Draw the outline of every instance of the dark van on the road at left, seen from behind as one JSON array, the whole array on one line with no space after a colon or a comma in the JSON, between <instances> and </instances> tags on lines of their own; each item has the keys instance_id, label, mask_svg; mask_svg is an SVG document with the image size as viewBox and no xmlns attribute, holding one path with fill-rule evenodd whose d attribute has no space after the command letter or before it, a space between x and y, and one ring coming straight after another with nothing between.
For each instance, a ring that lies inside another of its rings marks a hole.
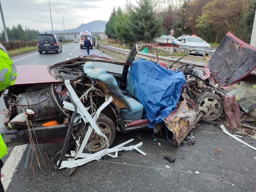
<instances>
[{"instance_id":1,"label":"dark van on the road at left, seen from behind","mask_svg":"<svg viewBox=\"0 0 256 192\"><path fill-rule=\"evenodd\" d=\"M62 52L61 39L53 34L39 34L37 37L37 47L40 54L45 51L54 51L56 53Z\"/></svg>"}]
</instances>

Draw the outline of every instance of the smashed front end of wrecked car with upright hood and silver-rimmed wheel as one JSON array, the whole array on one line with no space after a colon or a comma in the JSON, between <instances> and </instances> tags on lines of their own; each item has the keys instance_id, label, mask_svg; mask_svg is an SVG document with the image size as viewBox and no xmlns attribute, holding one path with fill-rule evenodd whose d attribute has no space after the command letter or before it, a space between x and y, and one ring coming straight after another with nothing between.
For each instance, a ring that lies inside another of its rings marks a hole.
<instances>
[{"instance_id":1,"label":"smashed front end of wrecked car with upright hood and silver-rimmed wheel","mask_svg":"<svg viewBox=\"0 0 256 192\"><path fill-rule=\"evenodd\" d=\"M185 92L197 101L204 120L218 119L224 109L227 120L234 119L228 120L229 125L237 128L240 124L234 124L234 121L240 121L239 107L225 89L247 76L255 67L256 48L228 32L204 68L185 64L178 70L184 72L188 85ZM248 113L249 110L240 107L240 112Z\"/></svg>"}]
</instances>

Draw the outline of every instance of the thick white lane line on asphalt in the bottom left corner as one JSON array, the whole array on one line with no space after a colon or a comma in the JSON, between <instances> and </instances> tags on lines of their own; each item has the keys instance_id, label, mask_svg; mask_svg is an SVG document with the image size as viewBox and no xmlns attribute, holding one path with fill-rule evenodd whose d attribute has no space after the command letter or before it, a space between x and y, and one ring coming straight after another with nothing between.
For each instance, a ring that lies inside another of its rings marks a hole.
<instances>
[{"instance_id":1,"label":"thick white lane line on asphalt in the bottom left corner","mask_svg":"<svg viewBox=\"0 0 256 192\"><path fill-rule=\"evenodd\" d=\"M4 162L3 168L1 170L1 173L3 174L3 177L1 178L1 180L2 180L3 188L5 191L7 191L7 188L13 177L13 173L15 172L22 158L22 155L26 150L26 147L27 145L14 147L8 159L6 159L6 162Z\"/></svg>"}]
</instances>

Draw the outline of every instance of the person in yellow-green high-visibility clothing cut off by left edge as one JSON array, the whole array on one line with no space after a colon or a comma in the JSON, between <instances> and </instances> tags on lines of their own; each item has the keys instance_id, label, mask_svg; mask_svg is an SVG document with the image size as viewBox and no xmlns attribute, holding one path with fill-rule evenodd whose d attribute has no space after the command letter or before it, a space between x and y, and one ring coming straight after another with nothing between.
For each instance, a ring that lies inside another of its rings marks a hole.
<instances>
[{"instance_id":1,"label":"person in yellow-green high-visibility clothing cut off by left edge","mask_svg":"<svg viewBox=\"0 0 256 192\"><path fill-rule=\"evenodd\" d=\"M12 60L7 54L6 49L0 43L0 96L5 88L15 83L17 70ZM7 147L0 134L0 175L3 162L1 158L7 154ZM0 191L4 191L0 176Z\"/></svg>"}]
</instances>

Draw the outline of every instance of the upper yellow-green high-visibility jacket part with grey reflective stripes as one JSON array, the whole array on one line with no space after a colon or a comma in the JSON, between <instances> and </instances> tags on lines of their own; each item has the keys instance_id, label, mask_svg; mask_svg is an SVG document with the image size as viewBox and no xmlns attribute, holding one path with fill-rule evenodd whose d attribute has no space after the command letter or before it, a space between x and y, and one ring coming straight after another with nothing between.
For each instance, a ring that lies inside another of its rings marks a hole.
<instances>
[{"instance_id":1,"label":"upper yellow-green high-visibility jacket part with grey reflective stripes","mask_svg":"<svg viewBox=\"0 0 256 192\"><path fill-rule=\"evenodd\" d=\"M17 70L8 54L0 49L0 91L15 83Z\"/></svg>"}]
</instances>

